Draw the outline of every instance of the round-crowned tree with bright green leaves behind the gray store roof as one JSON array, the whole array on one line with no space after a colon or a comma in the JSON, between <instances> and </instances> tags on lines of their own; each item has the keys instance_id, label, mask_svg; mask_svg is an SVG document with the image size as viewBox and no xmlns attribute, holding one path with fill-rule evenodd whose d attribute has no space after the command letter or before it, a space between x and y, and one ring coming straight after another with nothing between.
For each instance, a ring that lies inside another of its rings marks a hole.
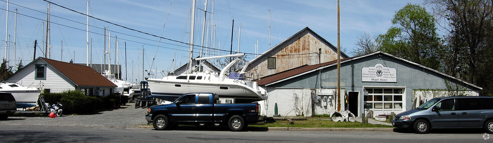
<instances>
[{"instance_id":1,"label":"round-crowned tree with bright green leaves behind the gray store roof","mask_svg":"<svg viewBox=\"0 0 493 143\"><path fill-rule=\"evenodd\" d=\"M382 51L441 69L442 42L436 33L435 19L425 8L408 4L396 12L392 24L394 26L376 40Z\"/></svg>"}]
</instances>

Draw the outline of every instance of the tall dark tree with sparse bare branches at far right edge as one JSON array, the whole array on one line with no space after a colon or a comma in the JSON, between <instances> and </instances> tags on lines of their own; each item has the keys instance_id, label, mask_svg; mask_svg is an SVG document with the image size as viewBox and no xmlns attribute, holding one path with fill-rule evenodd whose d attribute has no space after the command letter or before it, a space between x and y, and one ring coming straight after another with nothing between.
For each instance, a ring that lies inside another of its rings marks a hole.
<instances>
[{"instance_id":1,"label":"tall dark tree with sparse bare branches at far right edge","mask_svg":"<svg viewBox=\"0 0 493 143\"><path fill-rule=\"evenodd\" d=\"M460 73L461 79L493 93L491 62L493 53L493 13L490 0L427 0L443 21L448 35L446 72ZM481 77L481 78L479 78Z\"/></svg>"}]
</instances>

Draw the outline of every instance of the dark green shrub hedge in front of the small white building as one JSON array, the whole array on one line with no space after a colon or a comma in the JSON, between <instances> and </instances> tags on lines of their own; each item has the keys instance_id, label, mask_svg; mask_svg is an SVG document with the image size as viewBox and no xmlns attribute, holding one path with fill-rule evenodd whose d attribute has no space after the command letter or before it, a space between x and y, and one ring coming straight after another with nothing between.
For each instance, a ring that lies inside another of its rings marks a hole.
<instances>
[{"instance_id":1,"label":"dark green shrub hedge in front of the small white building","mask_svg":"<svg viewBox=\"0 0 493 143\"><path fill-rule=\"evenodd\" d=\"M86 96L81 91L65 91L62 93L42 93L45 102L63 105L63 112L67 114L84 114L93 112L97 109L112 108L114 106L114 96Z\"/></svg>"}]
</instances>

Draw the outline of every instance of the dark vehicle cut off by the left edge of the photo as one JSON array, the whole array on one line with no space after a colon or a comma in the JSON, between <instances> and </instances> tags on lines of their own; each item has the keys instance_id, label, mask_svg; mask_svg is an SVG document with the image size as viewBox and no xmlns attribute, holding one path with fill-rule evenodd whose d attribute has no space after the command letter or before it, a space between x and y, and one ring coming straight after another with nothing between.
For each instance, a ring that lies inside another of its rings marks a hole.
<instances>
[{"instance_id":1,"label":"dark vehicle cut off by the left edge of the photo","mask_svg":"<svg viewBox=\"0 0 493 143\"><path fill-rule=\"evenodd\" d=\"M16 99L11 93L0 92L0 119L7 119L17 111Z\"/></svg>"}]
</instances>

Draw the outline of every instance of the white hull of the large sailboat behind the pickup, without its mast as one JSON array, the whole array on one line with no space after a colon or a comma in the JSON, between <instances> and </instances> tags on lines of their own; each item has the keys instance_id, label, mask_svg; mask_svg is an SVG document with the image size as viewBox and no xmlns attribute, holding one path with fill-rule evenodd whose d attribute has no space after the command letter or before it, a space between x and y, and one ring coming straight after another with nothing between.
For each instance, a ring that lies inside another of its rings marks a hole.
<instances>
[{"instance_id":1,"label":"white hull of the large sailboat behind the pickup, without its mast","mask_svg":"<svg viewBox=\"0 0 493 143\"><path fill-rule=\"evenodd\" d=\"M180 76L203 77L202 79L177 79L178 76L167 76L162 79L149 78L152 96L167 101L174 101L180 95L192 92L216 93L221 97L236 98L237 101L253 102L267 99L265 89L258 87L256 82L236 79L218 78L217 73L193 73Z\"/></svg>"}]
</instances>

